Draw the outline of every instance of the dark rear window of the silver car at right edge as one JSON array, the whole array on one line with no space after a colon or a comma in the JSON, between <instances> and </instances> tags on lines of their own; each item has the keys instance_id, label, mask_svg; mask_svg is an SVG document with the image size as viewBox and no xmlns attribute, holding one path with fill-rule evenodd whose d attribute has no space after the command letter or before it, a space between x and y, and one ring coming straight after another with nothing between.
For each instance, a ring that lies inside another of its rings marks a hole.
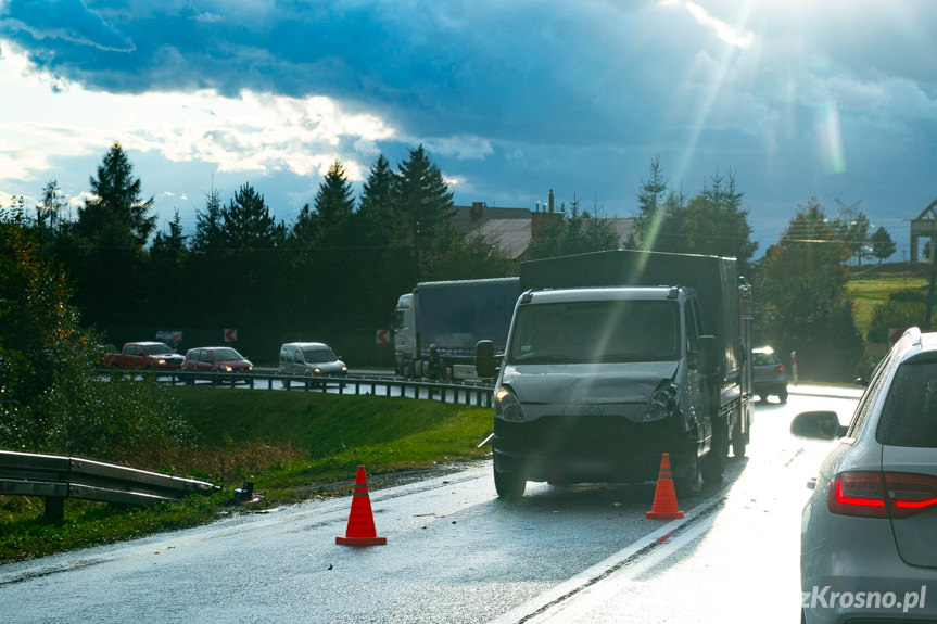
<instances>
[{"instance_id":1,"label":"dark rear window of the silver car at right edge","mask_svg":"<svg viewBox=\"0 0 937 624\"><path fill-rule=\"evenodd\" d=\"M937 359L909 360L898 368L876 436L889 446L937 448Z\"/></svg>"}]
</instances>

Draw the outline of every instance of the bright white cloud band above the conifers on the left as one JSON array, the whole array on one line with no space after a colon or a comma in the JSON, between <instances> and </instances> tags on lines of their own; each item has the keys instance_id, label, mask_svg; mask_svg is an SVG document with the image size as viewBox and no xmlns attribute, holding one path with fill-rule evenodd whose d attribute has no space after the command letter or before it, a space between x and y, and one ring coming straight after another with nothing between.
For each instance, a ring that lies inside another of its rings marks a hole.
<instances>
[{"instance_id":1,"label":"bright white cloud band above the conifers on the left","mask_svg":"<svg viewBox=\"0 0 937 624\"><path fill-rule=\"evenodd\" d=\"M242 91L226 98L212 90L140 95L87 91L56 84L29 69L4 47L0 80L16 98L4 100L0 122L0 182L33 182L49 171L48 154L100 153L114 141L157 152L176 163L207 162L218 171L289 170L322 174L337 158L350 179L362 179L349 140L375 151L396 131L376 115L347 113L337 101Z\"/></svg>"}]
</instances>

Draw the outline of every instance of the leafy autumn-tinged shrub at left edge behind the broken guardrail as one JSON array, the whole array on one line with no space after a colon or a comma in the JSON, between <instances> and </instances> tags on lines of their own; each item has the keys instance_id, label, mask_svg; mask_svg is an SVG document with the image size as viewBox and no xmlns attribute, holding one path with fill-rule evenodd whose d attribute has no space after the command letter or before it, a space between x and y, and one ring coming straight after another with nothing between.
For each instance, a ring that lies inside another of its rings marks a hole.
<instances>
[{"instance_id":1,"label":"leafy autumn-tinged shrub at left edge behind the broken guardrail","mask_svg":"<svg viewBox=\"0 0 937 624\"><path fill-rule=\"evenodd\" d=\"M109 383L65 273L21 211L0 214L0 448L159 463L188 433L163 389Z\"/></svg>"}]
</instances>

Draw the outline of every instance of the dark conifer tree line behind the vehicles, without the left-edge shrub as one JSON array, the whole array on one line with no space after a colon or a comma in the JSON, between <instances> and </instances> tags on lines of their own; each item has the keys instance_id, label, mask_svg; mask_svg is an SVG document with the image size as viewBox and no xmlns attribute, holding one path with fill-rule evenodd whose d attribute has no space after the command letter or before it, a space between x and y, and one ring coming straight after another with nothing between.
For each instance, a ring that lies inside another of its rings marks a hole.
<instances>
[{"instance_id":1,"label":"dark conifer tree line behind the vehicles, without the left-edge shrub","mask_svg":"<svg viewBox=\"0 0 937 624\"><path fill-rule=\"evenodd\" d=\"M229 199L216 190L206 194L193 231L183 230L178 211L159 229L153 199L142 196L119 143L89 177L89 189L75 218L66 216L54 180L42 190L34 218L22 199L13 206L26 215L21 224L42 257L66 271L81 322L115 343L152 339L157 329L182 330L183 347L221 342L223 329L237 328L235 346L265 364L281 342L325 340L356 365L389 365L390 351L376 344L375 330L388 326L396 297L417 282L505 277L517 275L519 260L616 247L736 257L757 286L760 342L803 353L839 336L827 353L850 362L861 336L844 264L894 253L885 230L870 243L861 213L828 220L811 200L797 208L781 241L752 263L757 244L735 173L717 171L686 196L669 184L659 157L641 179L626 240L619 240L598 207L590 213L573 198L568 207L543 215L517 259L496 241L459 232L453 193L422 145L395 168L378 156L358 198L335 161L312 202L289 222L244 182ZM796 242L807 240L824 240L825 251Z\"/></svg>"}]
</instances>

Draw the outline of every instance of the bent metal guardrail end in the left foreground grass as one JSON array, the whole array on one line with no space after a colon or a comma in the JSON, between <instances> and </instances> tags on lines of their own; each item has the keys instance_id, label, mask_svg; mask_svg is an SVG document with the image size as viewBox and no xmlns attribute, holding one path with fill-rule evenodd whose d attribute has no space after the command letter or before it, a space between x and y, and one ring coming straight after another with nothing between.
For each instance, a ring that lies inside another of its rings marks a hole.
<instances>
[{"instance_id":1,"label":"bent metal guardrail end in the left foreground grass","mask_svg":"<svg viewBox=\"0 0 937 624\"><path fill-rule=\"evenodd\" d=\"M204 481L90 459L0 450L0 494L45 498L45 519L49 522L64 518L66 498L147 506L217 489Z\"/></svg>"}]
</instances>

